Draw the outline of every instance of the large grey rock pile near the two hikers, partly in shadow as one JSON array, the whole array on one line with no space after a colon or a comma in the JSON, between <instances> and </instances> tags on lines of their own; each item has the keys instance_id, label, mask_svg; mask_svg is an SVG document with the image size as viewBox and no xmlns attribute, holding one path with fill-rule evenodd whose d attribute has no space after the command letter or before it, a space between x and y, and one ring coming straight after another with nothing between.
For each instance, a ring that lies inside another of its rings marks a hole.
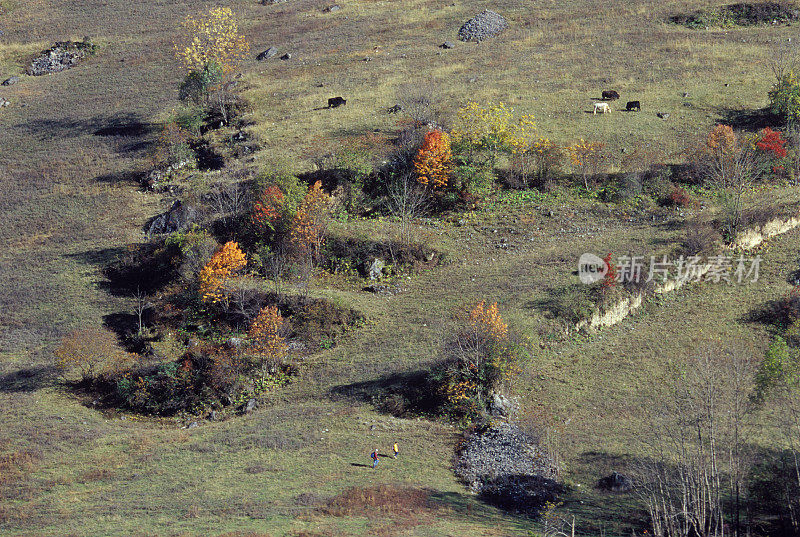
<instances>
[{"instance_id":1,"label":"large grey rock pile near the two hikers, partly in shadow","mask_svg":"<svg viewBox=\"0 0 800 537\"><path fill-rule=\"evenodd\" d=\"M514 424L472 434L458 453L456 475L503 507L535 511L561 491L547 453Z\"/></svg>"}]
</instances>

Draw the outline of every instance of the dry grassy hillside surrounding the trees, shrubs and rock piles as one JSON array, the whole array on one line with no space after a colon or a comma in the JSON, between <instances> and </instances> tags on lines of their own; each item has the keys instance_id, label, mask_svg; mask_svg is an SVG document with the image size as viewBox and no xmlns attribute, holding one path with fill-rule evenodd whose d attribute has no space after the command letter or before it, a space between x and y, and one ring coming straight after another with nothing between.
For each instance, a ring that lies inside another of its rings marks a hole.
<instances>
[{"instance_id":1,"label":"dry grassy hillside surrounding the trees, shrubs and rock piles","mask_svg":"<svg viewBox=\"0 0 800 537\"><path fill-rule=\"evenodd\" d=\"M592 488L636 455L641 394L665 382L667 358L714 338L752 346L760 359L770 334L746 314L790 289L797 230L763 249L756 284L687 286L598 334L567 332L551 305L575 284L581 253L669 250L683 240L687 215L562 189L509 196L481 212L419 222L418 240L447 262L403 281L396 296L365 293L360 281L318 282L313 294L368 322L320 349L255 412L183 429L176 420L95 410L59 381L52 349L70 329L132 310L100 271L142 242L144 222L171 204L141 191L136 177L150 166L157 123L176 105L175 29L208 2L0 5L0 79L22 74L56 40L89 35L100 46L71 70L0 87L12 101L0 110L3 534L529 535L534 521L487 506L456 480L459 429L395 418L371 400L387 377L425 369L453 308L482 299L497 301L533 342L514 391L529 414L559 425L571 487L561 509L575 514L582 535L643 531L646 517L632 497ZM247 165L294 160L298 171L354 138L390 137L398 118L386 110L408 84L430 85L449 114L468 100L505 101L534 114L540 132L556 140L605 141L615 165L639 142L679 161L687 140L719 121L741 124L766 104L768 60L796 33L666 22L710 5L699 1L350 0L332 13L311 0L226 5L253 45L242 85L246 130L262 149ZM456 42L458 27L485 7L506 16L510 29L481 44ZM438 48L444 40L456 47ZM292 59L256 62L269 46ZM642 112L619 111L617 102L610 116L591 115L605 88L640 100ZM345 107L317 109L336 95ZM757 195L798 202L796 187ZM357 220L331 231L381 237L394 227ZM512 246L498 247L503 240ZM395 440L400 459L369 468L371 449Z\"/></svg>"}]
</instances>

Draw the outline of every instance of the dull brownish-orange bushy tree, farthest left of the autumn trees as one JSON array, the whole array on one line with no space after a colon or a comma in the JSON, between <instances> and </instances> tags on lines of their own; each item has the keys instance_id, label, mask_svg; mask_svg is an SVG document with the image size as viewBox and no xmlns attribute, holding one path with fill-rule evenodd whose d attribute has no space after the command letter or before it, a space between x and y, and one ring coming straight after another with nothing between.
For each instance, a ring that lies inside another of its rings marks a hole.
<instances>
[{"instance_id":1,"label":"dull brownish-orange bushy tree, farthest left of the autumn trees","mask_svg":"<svg viewBox=\"0 0 800 537\"><path fill-rule=\"evenodd\" d=\"M83 382L91 382L103 373L124 369L135 359L135 355L119 347L112 332L99 328L70 332L53 354L56 365L65 375L77 372Z\"/></svg>"}]
</instances>

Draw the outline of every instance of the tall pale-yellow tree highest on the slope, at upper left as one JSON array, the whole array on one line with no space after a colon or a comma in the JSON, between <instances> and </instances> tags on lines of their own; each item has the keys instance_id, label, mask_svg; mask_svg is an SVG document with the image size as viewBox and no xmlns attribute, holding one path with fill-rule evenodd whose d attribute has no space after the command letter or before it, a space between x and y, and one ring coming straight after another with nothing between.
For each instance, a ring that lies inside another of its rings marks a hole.
<instances>
[{"instance_id":1,"label":"tall pale-yellow tree highest on the slope, at upper left","mask_svg":"<svg viewBox=\"0 0 800 537\"><path fill-rule=\"evenodd\" d=\"M209 91L216 89L219 111L227 123L229 77L249 50L230 8L212 8L199 17L189 15L175 44L175 52L189 72L182 90L194 88L207 103Z\"/></svg>"}]
</instances>

